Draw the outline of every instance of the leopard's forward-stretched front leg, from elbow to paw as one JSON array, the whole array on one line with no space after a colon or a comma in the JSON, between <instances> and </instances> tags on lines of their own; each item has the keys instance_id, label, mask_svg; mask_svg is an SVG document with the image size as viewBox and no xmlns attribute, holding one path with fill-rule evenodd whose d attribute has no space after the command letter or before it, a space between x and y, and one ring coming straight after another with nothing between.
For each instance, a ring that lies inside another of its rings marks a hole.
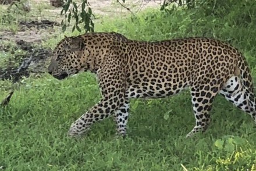
<instances>
[{"instance_id":1,"label":"leopard's forward-stretched front leg, from elbow to paw","mask_svg":"<svg viewBox=\"0 0 256 171\"><path fill-rule=\"evenodd\" d=\"M125 103L123 95L112 98L103 98L93 108L84 113L79 119L72 123L69 129L69 136L79 136L86 133L90 126L98 121L109 117L113 112L123 106Z\"/></svg>"}]
</instances>

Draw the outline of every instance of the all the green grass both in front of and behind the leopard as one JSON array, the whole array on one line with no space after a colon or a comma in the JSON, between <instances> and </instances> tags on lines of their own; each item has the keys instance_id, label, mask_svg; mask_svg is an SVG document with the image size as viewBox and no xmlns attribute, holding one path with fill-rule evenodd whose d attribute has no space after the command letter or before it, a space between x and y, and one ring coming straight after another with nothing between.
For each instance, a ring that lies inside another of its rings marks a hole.
<instances>
[{"instance_id":1,"label":"all the green grass both in front of and behind the leopard","mask_svg":"<svg viewBox=\"0 0 256 171\"><path fill-rule=\"evenodd\" d=\"M254 19L251 8L234 5L225 17L204 16L201 9L171 14L151 9L135 18L103 19L95 29L147 41L215 37L239 48L255 77L255 20L244 24L237 19L244 11ZM43 45L54 48L62 36ZM70 124L101 98L93 74L62 81L44 74L19 85L0 81L0 86L0 99L8 94L8 86L15 88L9 105L0 108L0 167L5 170L256 170L255 123L219 96L211 126L191 138L185 136L195 120L189 91L184 91L172 98L131 101L125 139L115 137L111 118L75 139L67 137Z\"/></svg>"}]
</instances>

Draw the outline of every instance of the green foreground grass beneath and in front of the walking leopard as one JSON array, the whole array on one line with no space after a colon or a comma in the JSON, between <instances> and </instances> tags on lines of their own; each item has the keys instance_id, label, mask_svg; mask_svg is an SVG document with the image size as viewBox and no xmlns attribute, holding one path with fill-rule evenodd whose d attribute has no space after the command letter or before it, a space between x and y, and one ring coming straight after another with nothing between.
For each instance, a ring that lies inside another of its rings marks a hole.
<instances>
[{"instance_id":1,"label":"green foreground grass beneath and in front of the walking leopard","mask_svg":"<svg viewBox=\"0 0 256 171\"><path fill-rule=\"evenodd\" d=\"M132 101L125 139L115 138L112 119L73 139L66 135L70 124L100 99L94 76L44 76L23 84L0 111L0 165L6 170L255 169L254 123L222 97L208 131L192 138L185 138L194 116L184 91L161 101ZM230 142L222 148L216 140Z\"/></svg>"}]
</instances>

